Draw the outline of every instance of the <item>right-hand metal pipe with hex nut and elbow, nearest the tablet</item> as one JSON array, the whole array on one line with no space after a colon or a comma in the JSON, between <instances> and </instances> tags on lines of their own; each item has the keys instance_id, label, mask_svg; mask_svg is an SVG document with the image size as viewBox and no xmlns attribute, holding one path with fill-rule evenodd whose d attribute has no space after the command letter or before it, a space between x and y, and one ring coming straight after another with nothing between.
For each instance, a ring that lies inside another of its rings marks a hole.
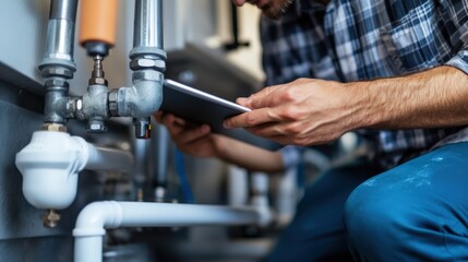
<instances>
[{"instance_id":1,"label":"right-hand metal pipe with hex nut and elbow, nearest the tablet","mask_svg":"<svg viewBox=\"0 0 468 262\"><path fill-rule=\"evenodd\" d=\"M118 108L116 111L119 115L130 112L135 124L135 136L148 139L149 115L159 109L163 99L163 72L166 70L166 52L163 50L163 0L135 1L133 49L130 51L130 69L134 71L133 85L136 90L124 90L117 94L117 99L122 95L128 96L129 103L123 105L125 108ZM155 73L159 73L156 82Z\"/></svg>"}]
</instances>

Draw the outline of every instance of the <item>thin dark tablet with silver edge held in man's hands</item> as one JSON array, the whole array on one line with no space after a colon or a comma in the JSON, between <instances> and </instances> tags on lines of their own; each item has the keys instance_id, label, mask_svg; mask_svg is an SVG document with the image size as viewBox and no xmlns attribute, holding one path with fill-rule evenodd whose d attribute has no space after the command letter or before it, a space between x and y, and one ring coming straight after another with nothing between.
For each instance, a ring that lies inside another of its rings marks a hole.
<instances>
[{"instance_id":1,"label":"thin dark tablet with silver edge held in man's hands","mask_svg":"<svg viewBox=\"0 0 468 262\"><path fill-rule=\"evenodd\" d=\"M225 134L265 150L275 151L284 146L249 133L241 128L223 128L225 119L250 111L250 109L172 80L165 80L160 110L194 123L207 123L215 133Z\"/></svg>"}]
</instances>

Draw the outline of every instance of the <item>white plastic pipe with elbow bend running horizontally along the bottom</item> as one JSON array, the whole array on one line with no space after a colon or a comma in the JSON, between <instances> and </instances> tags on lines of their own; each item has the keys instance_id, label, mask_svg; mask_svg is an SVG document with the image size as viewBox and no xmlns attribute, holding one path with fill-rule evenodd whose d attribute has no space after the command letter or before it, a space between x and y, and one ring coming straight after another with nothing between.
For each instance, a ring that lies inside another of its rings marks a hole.
<instances>
[{"instance_id":1,"label":"white plastic pipe with elbow bend running horizontally along the bottom","mask_svg":"<svg viewBox=\"0 0 468 262\"><path fill-rule=\"evenodd\" d=\"M105 228L200 225L266 225L265 207L104 201L88 204L73 229L75 262L100 262Z\"/></svg>"}]
</instances>

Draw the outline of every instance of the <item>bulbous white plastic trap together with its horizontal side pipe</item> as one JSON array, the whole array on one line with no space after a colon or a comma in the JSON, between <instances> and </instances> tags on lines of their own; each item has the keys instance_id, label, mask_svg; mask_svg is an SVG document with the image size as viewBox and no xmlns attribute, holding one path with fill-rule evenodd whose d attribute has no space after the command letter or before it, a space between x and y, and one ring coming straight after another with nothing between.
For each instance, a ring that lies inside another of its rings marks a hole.
<instances>
[{"instance_id":1,"label":"bulbous white plastic trap together with its horizontal side pipe","mask_svg":"<svg viewBox=\"0 0 468 262\"><path fill-rule=\"evenodd\" d=\"M23 194L37 209L63 210L74 200L77 174L93 170L127 170L129 152L98 148L65 132L36 131L31 143L16 154L23 175Z\"/></svg>"}]
</instances>

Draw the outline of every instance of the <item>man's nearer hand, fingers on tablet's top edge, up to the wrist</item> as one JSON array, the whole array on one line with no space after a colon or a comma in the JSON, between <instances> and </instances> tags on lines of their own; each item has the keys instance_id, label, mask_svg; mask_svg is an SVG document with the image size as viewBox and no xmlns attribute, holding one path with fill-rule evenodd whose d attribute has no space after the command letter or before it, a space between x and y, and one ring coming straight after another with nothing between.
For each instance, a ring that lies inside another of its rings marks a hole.
<instances>
[{"instance_id":1,"label":"man's nearer hand, fingers on tablet's top edge, up to the wrist","mask_svg":"<svg viewBox=\"0 0 468 262\"><path fill-rule=\"evenodd\" d=\"M238 98L238 104L253 110L224 124L283 144L323 144L356 128L351 119L364 96L348 99L347 94L343 83L300 79Z\"/></svg>"}]
</instances>

